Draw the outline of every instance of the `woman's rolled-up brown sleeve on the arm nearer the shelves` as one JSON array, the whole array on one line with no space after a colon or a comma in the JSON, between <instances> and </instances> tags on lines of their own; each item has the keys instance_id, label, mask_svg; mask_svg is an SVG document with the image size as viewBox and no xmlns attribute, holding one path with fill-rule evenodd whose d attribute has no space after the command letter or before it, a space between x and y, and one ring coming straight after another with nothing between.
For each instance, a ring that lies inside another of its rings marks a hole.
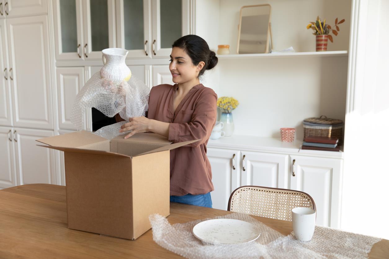
<instances>
[{"instance_id":1,"label":"woman's rolled-up brown sleeve on the arm nearer the shelves","mask_svg":"<svg viewBox=\"0 0 389 259\"><path fill-rule=\"evenodd\" d=\"M217 95L204 93L195 104L192 121L189 123L170 123L169 124L169 141L173 143L201 139L187 146L197 147L205 143L216 122L217 116Z\"/></svg>"}]
</instances>

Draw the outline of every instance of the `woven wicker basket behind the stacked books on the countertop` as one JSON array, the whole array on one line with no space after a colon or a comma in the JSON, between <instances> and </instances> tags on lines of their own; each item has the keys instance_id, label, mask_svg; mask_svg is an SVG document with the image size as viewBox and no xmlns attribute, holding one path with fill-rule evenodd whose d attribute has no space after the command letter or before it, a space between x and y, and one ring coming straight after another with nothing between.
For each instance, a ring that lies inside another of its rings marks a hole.
<instances>
[{"instance_id":1,"label":"woven wicker basket behind the stacked books on the countertop","mask_svg":"<svg viewBox=\"0 0 389 259\"><path fill-rule=\"evenodd\" d=\"M308 118L304 122L317 123L320 126L303 125L305 137L337 137L339 139L338 146L343 145L343 121L337 119L329 119L326 116L320 118ZM328 126L324 126L326 124ZM335 125L335 126L333 126Z\"/></svg>"}]
</instances>

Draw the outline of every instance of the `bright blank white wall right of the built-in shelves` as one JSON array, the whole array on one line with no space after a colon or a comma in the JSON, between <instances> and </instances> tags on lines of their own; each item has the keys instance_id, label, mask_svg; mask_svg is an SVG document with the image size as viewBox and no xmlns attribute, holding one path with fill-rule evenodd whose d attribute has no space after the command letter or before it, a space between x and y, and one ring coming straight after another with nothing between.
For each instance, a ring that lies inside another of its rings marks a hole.
<instances>
[{"instance_id":1,"label":"bright blank white wall right of the built-in shelves","mask_svg":"<svg viewBox=\"0 0 389 259\"><path fill-rule=\"evenodd\" d=\"M360 2L350 45L341 228L389 239L389 1ZM358 4L356 5L356 7Z\"/></svg>"}]
</instances>

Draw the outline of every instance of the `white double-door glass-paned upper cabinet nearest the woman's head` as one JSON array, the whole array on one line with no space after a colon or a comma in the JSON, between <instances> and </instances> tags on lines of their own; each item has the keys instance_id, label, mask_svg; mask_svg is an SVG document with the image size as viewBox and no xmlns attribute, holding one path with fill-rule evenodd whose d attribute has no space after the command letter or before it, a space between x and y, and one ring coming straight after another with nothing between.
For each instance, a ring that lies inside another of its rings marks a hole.
<instances>
[{"instance_id":1,"label":"white double-door glass-paned upper cabinet nearest the woman's head","mask_svg":"<svg viewBox=\"0 0 389 259\"><path fill-rule=\"evenodd\" d=\"M117 47L128 59L168 57L189 34L189 0L116 0Z\"/></svg>"}]
</instances>

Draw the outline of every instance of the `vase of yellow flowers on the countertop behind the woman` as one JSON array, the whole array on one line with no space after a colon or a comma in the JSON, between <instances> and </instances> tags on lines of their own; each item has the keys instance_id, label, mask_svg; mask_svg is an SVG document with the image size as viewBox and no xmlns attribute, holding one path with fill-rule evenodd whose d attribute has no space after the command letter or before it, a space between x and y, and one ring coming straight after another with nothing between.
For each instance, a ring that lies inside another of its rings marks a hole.
<instances>
[{"instance_id":1,"label":"vase of yellow flowers on the countertop behind the woman","mask_svg":"<svg viewBox=\"0 0 389 259\"><path fill-rule=\"evenodd\" d=\"M234 133L234 122L232 120L232 111L239 105L239 102L233 97L220 97L217 99L217 107L221 109L220 121L223 122L224 136L232 136Z\"/></svg>"}]
</instances>

